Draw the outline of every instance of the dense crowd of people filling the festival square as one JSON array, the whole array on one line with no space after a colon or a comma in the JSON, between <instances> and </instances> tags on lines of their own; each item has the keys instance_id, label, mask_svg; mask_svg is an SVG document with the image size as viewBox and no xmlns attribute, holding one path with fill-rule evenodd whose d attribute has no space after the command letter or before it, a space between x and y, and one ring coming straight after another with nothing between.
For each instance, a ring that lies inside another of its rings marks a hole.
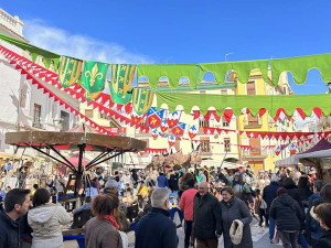
<instances>
[{"instance_id":1,"label":"dense crowd of people filling the festival square","mask_svg":"<svg viewBox=\"0 0 331 248\"><path fill-rule=\"evenodd\" d=\"M185 248L216 248L221 237L225 248L250 248L253 219L268 228L271 244L331 247L331 184L313 170L98 169L73 188L82 204L72 212L62 198L67 183L60 173L2 168L0 248L60 248L64 227L83 228L86 247L128 247L134 230L136 248L174 248L181 225Z\"/></svg>"}]
</instances>

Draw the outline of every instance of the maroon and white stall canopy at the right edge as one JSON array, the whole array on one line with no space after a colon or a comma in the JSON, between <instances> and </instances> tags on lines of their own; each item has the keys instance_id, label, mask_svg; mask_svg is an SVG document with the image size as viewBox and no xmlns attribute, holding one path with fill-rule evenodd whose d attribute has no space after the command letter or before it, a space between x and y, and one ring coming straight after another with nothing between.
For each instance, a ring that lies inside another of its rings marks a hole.
<instances>
[{"instance_id":1,"label":"maroon and white stall canopy at the right edge","mask_svg":"<svg viewBox=\"0 0 331 248\"><path fill-rule=\"evenodd\" d=\"M331 158L331 143L325 139L321 139L316 145L305 152L276 161L276 166L281 168L297 165L300 160L310 158Z\"/></svg>"}]
</instances>

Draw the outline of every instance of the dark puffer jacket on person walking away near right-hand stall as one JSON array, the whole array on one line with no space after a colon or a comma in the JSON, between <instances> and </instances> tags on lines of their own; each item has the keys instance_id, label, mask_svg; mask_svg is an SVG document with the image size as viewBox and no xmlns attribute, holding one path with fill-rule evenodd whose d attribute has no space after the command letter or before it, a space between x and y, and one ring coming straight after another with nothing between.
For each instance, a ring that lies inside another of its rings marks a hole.
<instances>
[{"instance_id":1,"label":"dark puffer jacket on person walking away near right-hand stall","mask_svg":"<svg viewBox=\"0 0 331 248\"><path fill-rule=\"evenodd\" d=\"M279 230L300 230L303 212L298 202L284 193L274 200L270 216L276 219Z\"/></svg>"}]
</instances>

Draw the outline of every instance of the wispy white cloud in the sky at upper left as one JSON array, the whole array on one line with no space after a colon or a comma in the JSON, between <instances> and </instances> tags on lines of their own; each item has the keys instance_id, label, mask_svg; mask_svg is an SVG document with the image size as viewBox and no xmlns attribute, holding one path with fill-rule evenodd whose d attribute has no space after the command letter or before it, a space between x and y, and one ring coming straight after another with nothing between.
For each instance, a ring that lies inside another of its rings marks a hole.
<instances>
[{"instance_id":1,"label":"wispy white cloud in the sky at upper left","mask_svg":"<svg viewBox=\"0 0 331 248\"><path fill-rule=\"evenodd\" d=\"M150 64L153 61L143 54L131 53L126 47L98 41L96 39L72 34L65 30L49 26L41 20L25 20L24 35L31 44L86 61L128 64Z\"/></svg>"}]
</instances>

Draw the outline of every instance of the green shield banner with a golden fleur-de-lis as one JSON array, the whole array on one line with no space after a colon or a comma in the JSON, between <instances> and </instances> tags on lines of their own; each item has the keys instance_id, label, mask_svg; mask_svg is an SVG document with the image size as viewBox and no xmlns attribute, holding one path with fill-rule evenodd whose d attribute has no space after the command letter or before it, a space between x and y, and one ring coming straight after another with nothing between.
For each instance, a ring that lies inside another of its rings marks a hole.
<instances>
[{"instance_id":1,"label":"green shield banner with a golden fleur-de-lis","mask_svg":"<svg viewBox=\"0 0 331 248\"><path fill-rule=\"evenodd\" d=\"M95 99L105 88L109 64L85 61L82 74L82 86L85 88L86 100Z\"/></svg>"}]
</instances>

